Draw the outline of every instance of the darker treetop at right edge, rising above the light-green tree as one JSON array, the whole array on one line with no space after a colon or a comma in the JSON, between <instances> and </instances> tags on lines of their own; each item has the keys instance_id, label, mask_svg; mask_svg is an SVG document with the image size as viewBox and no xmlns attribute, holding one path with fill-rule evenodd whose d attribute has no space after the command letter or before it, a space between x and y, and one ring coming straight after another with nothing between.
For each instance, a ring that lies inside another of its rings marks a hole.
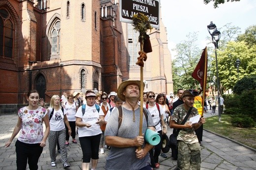
<instances>
[{"instance_id":1,"label":"darker treetop at right edge, rising above the light-green tree","mask_svg":"<svg viewBox=\"0 0 256 170\"><path fill-rule=\"evenodd\" d=\"M245 41L250 48L256 45L256 25L248 27L245 33L238 35L237 41Z\"/></svg>"}]
</instances>

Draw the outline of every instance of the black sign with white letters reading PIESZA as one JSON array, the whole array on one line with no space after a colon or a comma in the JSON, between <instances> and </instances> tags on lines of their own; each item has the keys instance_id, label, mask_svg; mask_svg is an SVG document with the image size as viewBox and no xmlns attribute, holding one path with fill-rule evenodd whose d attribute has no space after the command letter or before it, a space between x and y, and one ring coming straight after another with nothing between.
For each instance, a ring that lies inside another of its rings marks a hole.
<instances>
[{"instance_id":1,"label":"black sign with white letters reading PIESZA","mask_svg":"<svg viewBox=\"0 0 256 170\"><path fill-rule=\"evenodd\" d=\"M143 13L149 18L153 28L159 28L159 0L120 0L120 21L133 24L134 14Z\"/></svg>"}]
</instances>

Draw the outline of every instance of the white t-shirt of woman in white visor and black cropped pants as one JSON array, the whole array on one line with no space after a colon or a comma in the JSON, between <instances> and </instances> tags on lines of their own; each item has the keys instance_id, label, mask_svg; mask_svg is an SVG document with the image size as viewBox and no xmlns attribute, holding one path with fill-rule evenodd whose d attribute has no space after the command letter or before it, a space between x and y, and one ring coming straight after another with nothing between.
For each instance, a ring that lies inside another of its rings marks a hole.
<instances>
[{"instance_id":1,"label":"white t-shirt of woman in white visor and black cropped pants","mask_svg":"<svg viewBox=\"0 0 256 170\"><path fill-rule=\"evenodd\" d=\"M85 113L83 115L82 113L82 107L80 106L75 114L76 117L82 118L83 122L91 122L91 121L97 121L100 115L104 116L104 113L102 109L99 107L99 112L96 110L95 105L94 106L88 106L86 104L85 107ZM88 136L95 136L98 134L101 134L100 125L93 123L91 127L79 127L78 128L78 136L80 137L88 137Z\"/></svg>"}]
</instances>

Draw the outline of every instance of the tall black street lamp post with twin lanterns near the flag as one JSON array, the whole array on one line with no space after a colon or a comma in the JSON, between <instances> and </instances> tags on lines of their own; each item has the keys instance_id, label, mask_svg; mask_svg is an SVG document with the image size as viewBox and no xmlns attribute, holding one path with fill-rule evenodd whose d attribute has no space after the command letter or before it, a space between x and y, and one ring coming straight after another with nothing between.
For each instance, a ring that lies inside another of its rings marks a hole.
<instances>
[{"instance_id":1,"label":"tall black street lamp post with twin lanterns near the flag","mask_svg":"<svg viewBox=\"0 0 256 170\"><path fill-rule=\"evenodd\" d=\"M220 79L218 71L218 60L217 60L217 49L219 48L218 42L221 38L221 32L217 29L216 25L211 22L208 26L208 32L212 36L212 43L215 46L215 62L216 62L216 77L217 77L217 88L218 88L218 113L219 113L219 122L221 122L221 100L220 100Z\"/></svg>"}]
</instances>

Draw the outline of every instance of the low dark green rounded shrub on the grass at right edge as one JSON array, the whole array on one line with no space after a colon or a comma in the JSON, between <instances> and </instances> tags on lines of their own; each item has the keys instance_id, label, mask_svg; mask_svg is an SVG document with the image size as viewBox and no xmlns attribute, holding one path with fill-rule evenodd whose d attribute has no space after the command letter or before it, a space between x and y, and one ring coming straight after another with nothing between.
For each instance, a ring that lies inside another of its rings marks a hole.
<instances>
[{"instance_id":1,"label":"low dark green rounded shrub on the grass at right edge","mask_svg":"<svg viewBox=\"0 0 256 170\"><path fill-rule=\"evenodd\" d=\"M247 117L243 114L233 115L231 118L231 124L240 128L255 127L255 121L251 117Z\"/></svg>"}]
</instances>

